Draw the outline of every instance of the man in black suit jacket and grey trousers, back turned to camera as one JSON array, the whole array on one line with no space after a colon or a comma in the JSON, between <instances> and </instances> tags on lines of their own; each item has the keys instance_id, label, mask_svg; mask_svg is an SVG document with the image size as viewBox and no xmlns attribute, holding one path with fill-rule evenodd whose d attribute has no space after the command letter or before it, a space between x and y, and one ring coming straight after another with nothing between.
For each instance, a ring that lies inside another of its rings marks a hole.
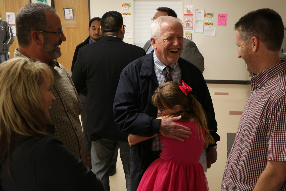
<instances>
[{"instance_id":1,"label":"man in black suit jacket and grey trousers, back turned to camera","mask_svg":"<svg viewBox=\"0 0 286 191\"><path fill-rule=\"evenodd\" d=\"M103 38L80 48L72 79L77 91L88 87L86 123L92 141L92 169L107 191L109 172L116 144L130 190L130 146L128 134L114 122L113 101L120 73L133 60L146 55L143 48L123 42L125 26L121 13L109 11L102 16Z\"/></svg>"}]
</instances>

